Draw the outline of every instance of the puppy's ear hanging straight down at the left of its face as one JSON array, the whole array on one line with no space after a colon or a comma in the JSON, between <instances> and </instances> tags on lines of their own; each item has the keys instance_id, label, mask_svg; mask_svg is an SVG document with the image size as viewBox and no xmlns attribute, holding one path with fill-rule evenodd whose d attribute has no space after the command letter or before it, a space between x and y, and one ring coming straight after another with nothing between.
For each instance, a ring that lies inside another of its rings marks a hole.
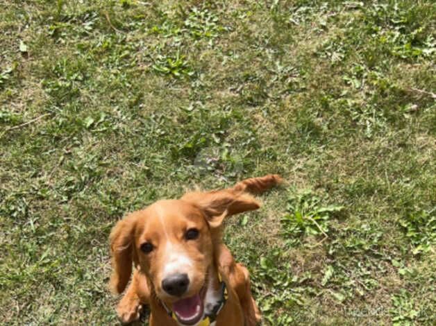
<instances>
[{"instance_id":1,"label":"puppy's ear hanging straight down at the left of its face","mask_svg":"<svg viewBox=\"0 0 436 326\"><path fill-rule=\"evenodd\" d=\"M110 289L115 293L121 293L126 288L132 273L132 261L137 258L135 254L135 228L137 215L128 215L115 225L110 232L110 253L112 255L112 276L110 277Z\"/></svg>"}]
</instances>

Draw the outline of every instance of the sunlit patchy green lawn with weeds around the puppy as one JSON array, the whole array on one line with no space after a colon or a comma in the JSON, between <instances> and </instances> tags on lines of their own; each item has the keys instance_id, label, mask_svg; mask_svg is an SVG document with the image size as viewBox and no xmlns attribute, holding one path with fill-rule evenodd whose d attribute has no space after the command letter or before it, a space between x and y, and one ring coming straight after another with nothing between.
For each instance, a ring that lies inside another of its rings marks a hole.
<instances>
[{"instance_id":1,"label":"sunlit patchy green lawn with weeds around the puppy","mask_svg":"<svg viewBox=\"0 0 436 326\"><path fill-rule=\"evenodd\" d=\"M3 323L119 325L119 218L280 173L226 222L262 325L435 325L434 1L2 0L0 31Z\"/></svg>"}]
</instances>

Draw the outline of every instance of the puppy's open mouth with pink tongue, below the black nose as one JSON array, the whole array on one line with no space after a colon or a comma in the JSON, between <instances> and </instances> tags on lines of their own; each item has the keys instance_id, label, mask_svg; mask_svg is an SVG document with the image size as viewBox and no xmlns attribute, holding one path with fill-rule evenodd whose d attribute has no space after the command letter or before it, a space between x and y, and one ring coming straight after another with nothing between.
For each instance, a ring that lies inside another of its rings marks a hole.
<instances>
[{"instance_id":1,"label":"puppy's open mouth with pink tongue, below the black nose","mask_svg":"<svg viewBox=\"0 0 436 326\"><path fill-rule=\"evenodd\" d=\"M202 293L197 293L190 298L178 300L173 303L173 312L177 320L183 325L194 325L203 317Z\"/></svg>"}]
</instances>

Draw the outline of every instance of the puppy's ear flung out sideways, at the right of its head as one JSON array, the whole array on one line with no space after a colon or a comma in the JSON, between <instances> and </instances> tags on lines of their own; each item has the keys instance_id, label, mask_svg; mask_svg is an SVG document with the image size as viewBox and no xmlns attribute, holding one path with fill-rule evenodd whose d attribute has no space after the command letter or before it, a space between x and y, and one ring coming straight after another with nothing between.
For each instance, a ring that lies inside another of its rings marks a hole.
<instances>
[{"instance_id":1,"label":"puppy's ear flung out sideways, at the right of its head","mask_svg":"<svg viewBox=\"0 0 436 326\"><path fill-rule=\"evenodd\" d=\"M218 228L226 216L252 211L260 207L253 196L235 189L190 192L181 198L199 207L211 228Z\"/></svg>"}]
</instances>

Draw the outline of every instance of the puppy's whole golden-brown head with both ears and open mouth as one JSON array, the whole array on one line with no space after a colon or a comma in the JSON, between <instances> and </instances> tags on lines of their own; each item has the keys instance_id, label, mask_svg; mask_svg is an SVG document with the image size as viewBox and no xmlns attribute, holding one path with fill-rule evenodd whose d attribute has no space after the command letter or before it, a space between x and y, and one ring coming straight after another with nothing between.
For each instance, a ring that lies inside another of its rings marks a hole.
<instances>
[{"instance_id":1,"label":"puppy's whole golden-brown head with both ears and open mouth","mask_svg":"<svg viewBox=\"0 0 436 326\"><path fill-rule=\"evenodd\" d=\"M129 214L110 234L112 288L124 291L133 261L179 322L196 323L203 316L206 275L224 218L258 207L244 191L225 189L160 200Z\"/></svg>"}]
</instances>

